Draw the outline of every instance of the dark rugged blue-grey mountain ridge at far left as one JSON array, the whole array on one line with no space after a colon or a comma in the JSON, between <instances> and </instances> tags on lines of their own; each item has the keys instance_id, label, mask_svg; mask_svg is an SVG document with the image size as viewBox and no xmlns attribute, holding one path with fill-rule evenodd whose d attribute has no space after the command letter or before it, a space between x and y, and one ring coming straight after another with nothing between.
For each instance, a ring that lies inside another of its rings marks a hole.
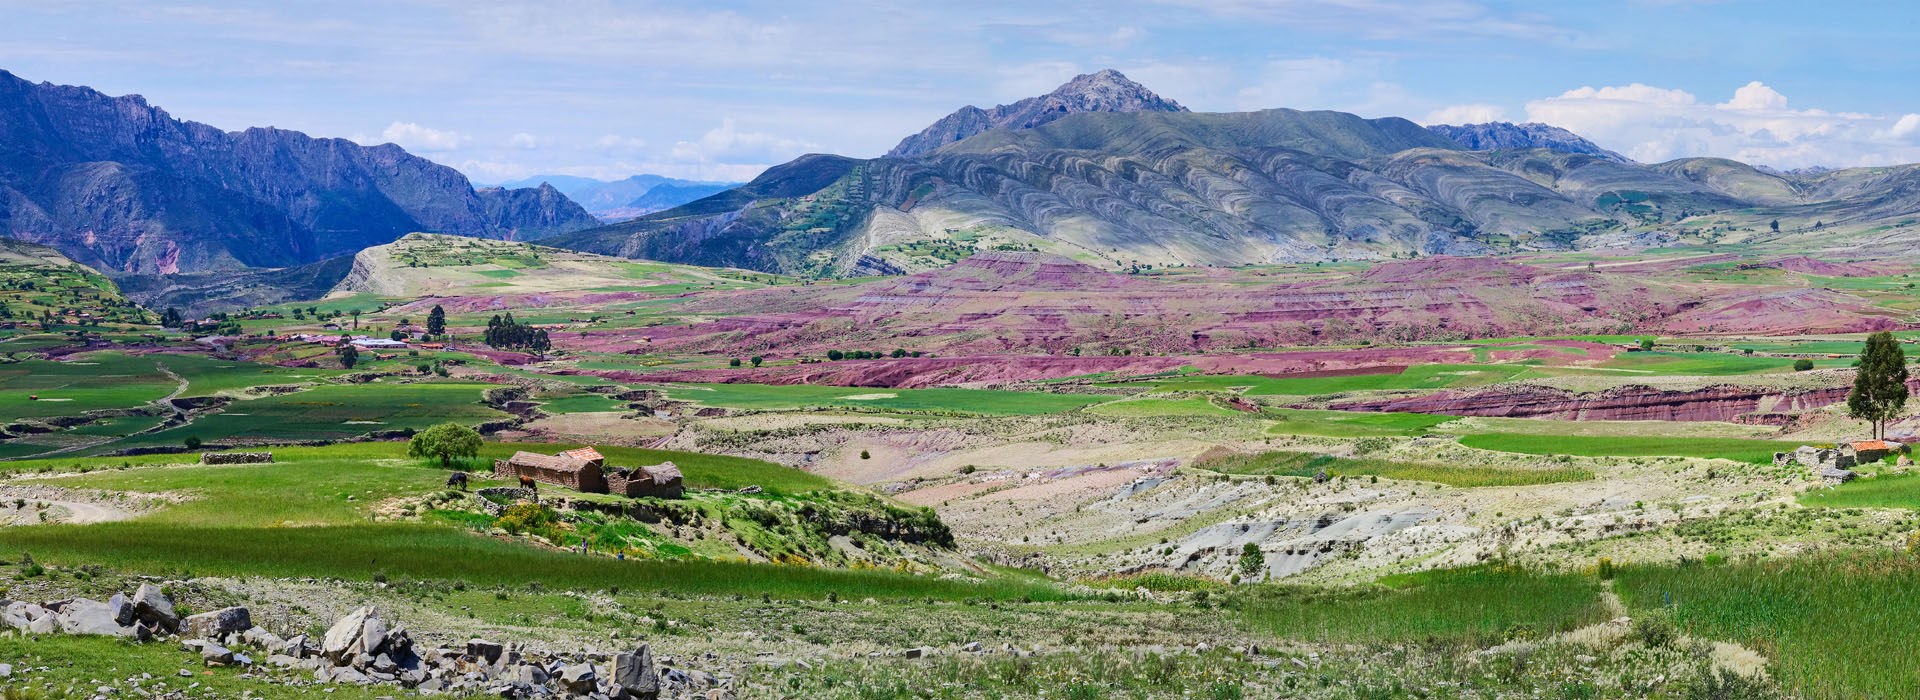
<instances>
[{"instance_id":1,"label":"dark rugged blue-grey mountain ridge at far left","mask_svg":"<svg viewBox=\"0 0 1920 700\"><path fill-rule=\"evenodd\" d=\"M108 270L290 267L413 230L528 238L591 224L551 188L474 192L394 144L225 132L140 96L0 71L0 234Z\"/></svg>"}]
</instances>

